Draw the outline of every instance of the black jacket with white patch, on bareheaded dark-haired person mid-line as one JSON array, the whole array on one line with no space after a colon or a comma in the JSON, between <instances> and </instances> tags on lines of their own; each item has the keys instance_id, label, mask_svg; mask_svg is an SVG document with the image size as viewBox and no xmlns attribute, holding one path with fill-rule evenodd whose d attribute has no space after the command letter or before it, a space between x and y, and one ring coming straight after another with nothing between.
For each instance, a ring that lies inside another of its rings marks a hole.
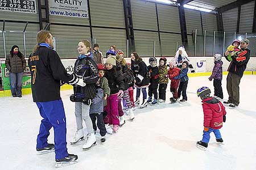
<instances>
[{"instance_id":1,"label":"black jacket with white patch, on bareheaded dark-haired person mid-line","mask_svg":"<svg viewBox=\"0 0 256 170\"><path fill-rule=\"evenodd\" d=\"M147 86L150 83L148 69L143 61L131 61L131 70L133 70L138 87Z\"/></svg>"}]
</instances>

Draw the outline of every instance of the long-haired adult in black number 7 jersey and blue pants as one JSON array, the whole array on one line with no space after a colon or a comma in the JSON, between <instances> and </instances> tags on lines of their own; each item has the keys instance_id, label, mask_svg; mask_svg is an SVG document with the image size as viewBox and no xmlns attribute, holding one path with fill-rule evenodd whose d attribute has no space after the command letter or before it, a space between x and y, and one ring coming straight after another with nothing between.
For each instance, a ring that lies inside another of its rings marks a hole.
<instances>
[{"instance_id":1,"label":"long-haired adult in black number 7 jersey and blue pants","mask_svg":"<svg viewBox=\"0 0 256 170\"><path fill-rule=\"evenodd\" d=\"M85 86L76 74L67 74L60 57L53 50L53 39L49 31L40 31L36 37L37 44L28 59L31 71L31 88L34 102L43 117L37 138L36 150L46 154L55 150L55 161L74 162L77 155L68 154L66 142L66 117L60 97L60 82L73 86ZM54 145L47 138L49 130L54 130ZM56 163L56 165L57 165Z\"/></svg>"}]
</instances>

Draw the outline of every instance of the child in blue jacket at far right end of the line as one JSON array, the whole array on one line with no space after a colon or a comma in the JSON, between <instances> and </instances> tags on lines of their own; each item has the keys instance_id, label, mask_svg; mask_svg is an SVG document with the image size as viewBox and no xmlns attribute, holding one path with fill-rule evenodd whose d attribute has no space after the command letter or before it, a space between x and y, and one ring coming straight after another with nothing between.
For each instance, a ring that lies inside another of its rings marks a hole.
<instances>
[{"instance_id":1,"label":"child in blue jacket at far right end of the line","mask_svg":"<svg viewBox=\"0 0 256 170\"><path fill-rule=\"evenodd\" d=\"M178 88L178 98L180 98L181 92L182 92L182 99L180 100L181 102L187 101L187 86L188 86L188 62L184 61L182 63L182 67L180 70L180 74L175 76L174 79L180 79L180 84Z\"/></svg>"}]
</instances>

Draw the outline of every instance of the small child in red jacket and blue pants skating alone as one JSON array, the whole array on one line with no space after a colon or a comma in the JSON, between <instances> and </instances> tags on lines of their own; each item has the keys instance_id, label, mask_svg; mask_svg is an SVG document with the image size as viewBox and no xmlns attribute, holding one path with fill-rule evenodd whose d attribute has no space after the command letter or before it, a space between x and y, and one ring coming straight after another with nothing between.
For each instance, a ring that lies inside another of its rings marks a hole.
<instances>
[{"instance_id":1,"label":"small child in red jacket and blue pants skating alone","mask_svg":"<svg viewBox=\"0 0 256 170\"><path fill-rule=\"evenodd\" d=\"M206 150L210 140L210 133L213 131L216 141L222 143L220 134L222 123L226 121L226 111L222 103L214 97L210 97L210 89L201 87L197 90L197 96L202 99L204 111L204 134L203 139L196 143L196 146Z\"/></svg>"}]
</instances>

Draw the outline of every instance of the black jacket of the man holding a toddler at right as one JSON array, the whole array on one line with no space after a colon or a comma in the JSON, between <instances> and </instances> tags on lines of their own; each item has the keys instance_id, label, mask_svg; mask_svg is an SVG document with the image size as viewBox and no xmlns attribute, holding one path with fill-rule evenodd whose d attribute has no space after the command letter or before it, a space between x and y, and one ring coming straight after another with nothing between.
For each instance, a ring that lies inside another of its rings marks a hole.
<instances>
[{"instance_id":1,"label":"black jacket of the man holding a toddler at right","mask_svg":"<svg viewBox=\"0 0 256 170\"><path fill-rule=\"evenodd\" d=\"M249 49L245 49L247 53L245 54L246 59L244 61L237 61L234 56L232 56L232 61L229 64L228 71L234 73L240 77L243 76L243 71L246 69L246 65L250 59L251 51ZM226 56L225 56L226 57Z\"/></svg>"}]
</instances>

